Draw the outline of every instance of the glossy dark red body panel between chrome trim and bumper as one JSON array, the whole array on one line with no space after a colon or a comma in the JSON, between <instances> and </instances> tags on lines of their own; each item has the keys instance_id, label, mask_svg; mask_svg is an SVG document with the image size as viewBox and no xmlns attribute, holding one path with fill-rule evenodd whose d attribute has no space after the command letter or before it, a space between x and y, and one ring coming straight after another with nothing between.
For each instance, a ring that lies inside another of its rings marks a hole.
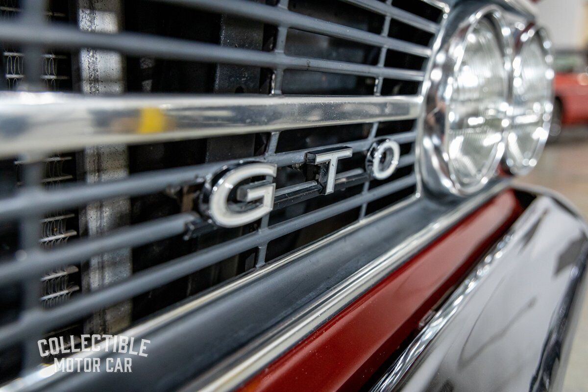
<instances>
[{"instance_id":1,"label":"glossy dark red body panel between chrome trim and bumper","mask_svg":"<svg viewBox=\"0 0 588 392\"><path fill-rule=\"evenodd\" d=\"M241 390L358 390L522 210L512 190L494 197Z\"/></svg>"}]
</instances>

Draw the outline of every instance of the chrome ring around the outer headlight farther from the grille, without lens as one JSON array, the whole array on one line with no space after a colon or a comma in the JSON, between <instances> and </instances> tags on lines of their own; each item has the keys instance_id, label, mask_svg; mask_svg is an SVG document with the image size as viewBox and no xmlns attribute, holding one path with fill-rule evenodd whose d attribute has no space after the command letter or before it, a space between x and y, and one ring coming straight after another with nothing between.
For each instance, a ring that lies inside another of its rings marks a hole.
<instances>
[{"instance_id":1,"label":"chrome ring around the outer headlight farther from the grille, without lens","mask_svg":"<svg viewBox=\"0 0 588 392\"><path fill-rule=\"evenodd\" d=\"M517 126L516 121L516 112L517 108L515 107L515 88L512 86L511 98L510 103L512 106L512 116L510 118L510 128L507 132L506 139L505 139L505 155L502 160L502 168L508 175L525 175L533 170L533 167L536 166L537 160L541 156L543 152L543 148L547 142L547 138L549 136L549 129L551 126L551 116L553 112L553 97L554 97L554 88L553 88L553 79L554 79L554 72L553 72L553 55L552 55L552 42L550 41L549 37L547 36L547 32L543 28L539 28L535 25L529 25L527 28L523 29L519 32L516 37L514 51L513 51L513 62L512 62L512 84L515 82L516 78L522 77L523 72L523 65L522 65L522 52L525 45L530 45L533 42L533 39L539 39L540 46L543 52L543 58L547 66L547 70L550 70L551 73L549 76L546 75L547 82L549 82L551 86L551 90L546 95L546 103L544 107L544 114L543 114L543 121L542 121L542 128L544 132L540 133L539 139L537 140L537 146L535 147L532 155L532 160L530 160L529 165L517 165L514 162L512 156L509 154L508 143L509 143L509 135L512 130Z\"/></svg>"}]
</instances>

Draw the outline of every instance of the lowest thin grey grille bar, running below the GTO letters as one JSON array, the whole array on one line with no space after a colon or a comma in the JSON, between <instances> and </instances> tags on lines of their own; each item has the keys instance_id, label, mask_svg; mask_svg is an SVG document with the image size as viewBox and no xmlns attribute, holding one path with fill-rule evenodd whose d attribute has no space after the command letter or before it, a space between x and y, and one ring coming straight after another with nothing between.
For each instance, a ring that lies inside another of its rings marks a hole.
<instances>
[{"instance_id":1,"label":"lowest thin grey grille bar, running below the GTO letters","mask_svg":"<svg viewBox=\"0 0 588 392\"><path fill-rule=\"evenodd\" d=\"M29 334L39 331L40 328L52 329L64 323L74 321L87 314L91 314L93 311L103 309L111 304L118 303L211 266L232 254L237 254L252 247L268 243L270 240L284 236L295 230L303 229L313 223L339 215L347 210L359 207L364 203L372 202L380 197L390 195L415 184L416 178L414 175L403 177L395 182L372 189L367 193L349 197L349 199L343 200L340 203L306 213L287 222L246 234L235 240L211 246L156 267L151 267L144 272L134 274L131 278L125 280L125 282L87 294L55 309L49 311L29 311L28 314L23 315L21 321L16 321L0 328L0 348L9 346L15 343L16 340L24 339Z\"/></svg>"}]
</instances>

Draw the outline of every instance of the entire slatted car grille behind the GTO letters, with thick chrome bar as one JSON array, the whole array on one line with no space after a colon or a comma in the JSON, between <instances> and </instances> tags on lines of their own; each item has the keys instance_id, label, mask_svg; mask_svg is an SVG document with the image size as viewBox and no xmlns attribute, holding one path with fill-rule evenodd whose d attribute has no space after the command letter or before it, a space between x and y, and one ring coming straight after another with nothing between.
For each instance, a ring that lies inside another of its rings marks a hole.
<instances>
[{"instance_id":1,"label":"entire slatted car grille behind the GTO letters, with thick chrome bar","mask_svg":"<svg viewBox=\"0 0 588 392\"><path fill-rule=\"evenodd\" d=\"M117 333L415 195L434 0L1 4L0 380L43 336ZM382 139L401 158L380 181ZM305 153L337 146L319 196ZM206 178L248 161L279 167L272 213L209 223Z\"/></svg>"}]
</instances>

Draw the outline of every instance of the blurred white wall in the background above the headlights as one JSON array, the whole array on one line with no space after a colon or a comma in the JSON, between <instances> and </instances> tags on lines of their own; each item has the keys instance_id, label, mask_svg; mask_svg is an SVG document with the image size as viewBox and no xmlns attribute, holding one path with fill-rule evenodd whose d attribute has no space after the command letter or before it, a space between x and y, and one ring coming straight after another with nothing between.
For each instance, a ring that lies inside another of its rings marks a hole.
<instances>
[{"instance_id":1,"label":"blurred white wall in the background above the headlights","mask_svg":"<svg viewBox=\"0 0 588 392\"><path fill-rule=\"evenodd\" d=\"M540 0L539 22L546 26L556 48L579 49L586 33L586 0Z\"/></svg>"}]
</instances>

